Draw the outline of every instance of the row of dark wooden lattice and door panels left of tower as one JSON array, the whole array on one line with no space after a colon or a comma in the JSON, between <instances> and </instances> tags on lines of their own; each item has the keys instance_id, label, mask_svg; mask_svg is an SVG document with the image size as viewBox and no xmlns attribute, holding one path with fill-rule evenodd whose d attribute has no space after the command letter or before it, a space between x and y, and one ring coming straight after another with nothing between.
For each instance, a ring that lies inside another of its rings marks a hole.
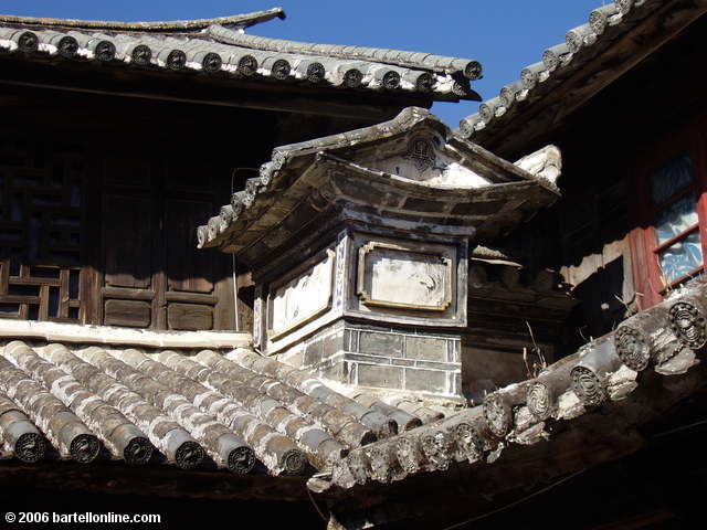
<instances>
[{"instance_id":1,"label":"row of dark wooden lattice and door panels left of tower","mask_svg":"<svg viewBox=\"0 0 707 530\"><path fill-rule=\"evenodd\" d=\"M233 329L231 258L194 236L230 170L89 144L0 128L0 318Z\"/></svg>"}]
</instances>

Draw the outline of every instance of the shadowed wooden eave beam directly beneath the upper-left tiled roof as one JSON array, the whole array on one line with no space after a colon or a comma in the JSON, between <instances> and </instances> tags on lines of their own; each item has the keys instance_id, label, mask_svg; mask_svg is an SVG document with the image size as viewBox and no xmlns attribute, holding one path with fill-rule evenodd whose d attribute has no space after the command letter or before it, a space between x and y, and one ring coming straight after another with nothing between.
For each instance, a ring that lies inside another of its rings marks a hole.
<instances>
[{"instance_id":1,"label":"shadowed wooden eave beam directly beneath the upper-left tiled roof","mask_svg":"<svg viewBox=\"0 0 707 530\"><path fill-rule=\"evenodd\" d=\"M31 67L28 67L30 66ZM56 63L0 57L0 86L98 94L106 96L240 107L380 121L408 106L429 108L429 95L370 93L275 83L268 80L235 80L224 76L163 73L119 65ZM355 102L355 103L351 103Z\"/></svg>"}]
</instances>

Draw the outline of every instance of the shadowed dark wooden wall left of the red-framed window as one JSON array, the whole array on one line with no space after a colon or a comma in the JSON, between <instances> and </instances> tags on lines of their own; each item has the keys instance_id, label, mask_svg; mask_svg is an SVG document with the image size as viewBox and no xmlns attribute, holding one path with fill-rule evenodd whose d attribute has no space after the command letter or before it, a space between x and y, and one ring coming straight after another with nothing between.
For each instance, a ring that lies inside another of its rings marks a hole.
<instances>
[{"instance_id":1,"label":"shadowed dark wooden wall left of the red-framed window","mask_svg":"<svg viewBox=\"0 0 707 530\"><path fill-rule=\"evenodd\" d=\"M707 51L704 18L604 87L557 128L537 131L519 158L547 144L562 151L562 198L524 230L500 242L529 256L531 268L560 269L581 304L559 338L571 352L644 309L634 273L647 264L632 253L631 233L645 229L637 211L647 159L668 161L675 144L685 148L705 130ZM635 251L635 248L633 250Z\"/></svg>"}]
</instances>

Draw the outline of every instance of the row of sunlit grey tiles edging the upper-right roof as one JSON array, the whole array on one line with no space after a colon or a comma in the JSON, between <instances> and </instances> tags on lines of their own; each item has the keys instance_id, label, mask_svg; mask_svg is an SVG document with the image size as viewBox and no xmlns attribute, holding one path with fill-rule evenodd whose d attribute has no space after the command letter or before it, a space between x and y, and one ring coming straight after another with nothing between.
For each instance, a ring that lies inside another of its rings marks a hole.
<instances>
[{"instance_id":1,"label":"row of sunlit grey tiles edging the upper-right roof","mask_svg":"<svg viewBox=\"0 0 707 530\"><path fill-rule=\"evenodd\" d=\"M548 93L562 83L567 71L599 54L662 3L661 0L616 0L594 9L588 23L569 30L564 42L542 52L541 61L523 68L520 78L505 85L498 96L482 103L476 114L462 118L456 132L473 138L519 103Z\"/></svg>"}]
</instances>

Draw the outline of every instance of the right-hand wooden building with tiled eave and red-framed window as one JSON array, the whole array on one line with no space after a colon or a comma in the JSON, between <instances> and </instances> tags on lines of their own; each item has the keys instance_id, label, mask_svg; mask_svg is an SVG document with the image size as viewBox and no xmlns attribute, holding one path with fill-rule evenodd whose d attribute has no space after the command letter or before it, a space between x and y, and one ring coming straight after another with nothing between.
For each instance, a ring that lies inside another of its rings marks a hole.
<instances>
[{"instance_id":1,"label":"right-hand wooden building with tiled eave and red-framed window","mask_svg":"<svg viewBox=\"0 0 707 530\"><path fill-rule=\"evenodd\" d=\"M701 4L625 3L597 10L591 33L570 30L461 123L500 156L562 151L563 197L525 244L582 300L569 343L610 331L704 269L707 109L693 67L705 55Z\"/></svg>"}]
</instances>

